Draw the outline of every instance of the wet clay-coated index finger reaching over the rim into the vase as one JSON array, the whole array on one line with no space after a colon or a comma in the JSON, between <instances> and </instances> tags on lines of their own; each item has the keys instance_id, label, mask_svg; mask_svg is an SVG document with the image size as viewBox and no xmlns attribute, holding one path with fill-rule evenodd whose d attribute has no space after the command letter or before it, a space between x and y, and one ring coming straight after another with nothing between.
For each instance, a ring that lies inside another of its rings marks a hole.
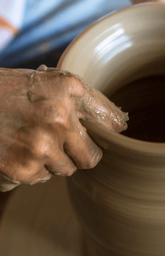
<instances>
[{"instance_id":1,"label":"wet clay-coated index finger reaching over the rim into the vase","mask_svg":"<svg viewBox=\"0 0 165 256\"><path fill-rule=\"evenodd\" d=\"M122 112L100 91L91 88L77 104L78 118L97 122L111 131L121 132L127 128L128 113ZM82 115L82 116L81 116Z\"/></svg>"}]
</instances>

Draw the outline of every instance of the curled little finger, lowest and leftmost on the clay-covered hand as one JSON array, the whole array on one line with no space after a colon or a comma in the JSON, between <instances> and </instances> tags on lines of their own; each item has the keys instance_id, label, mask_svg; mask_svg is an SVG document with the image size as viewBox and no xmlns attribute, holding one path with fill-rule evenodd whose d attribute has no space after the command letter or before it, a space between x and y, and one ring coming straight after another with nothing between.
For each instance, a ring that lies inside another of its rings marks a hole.
<instances>
[{"instance_id":1,"label":"curled little finger, lowest and leftmost on the clay-covered hand","mask_svg":"<svg viewBox=\"0 0 165 256\"><path fill-rule=\"evenodd\" d=\"M31 158L28 148L20 143L8 147L5 156L1 158L1 171L11 178L14 184L34 184L49 180L52 176L44 168L43 159Z\"/></svg>"}]
</instances>

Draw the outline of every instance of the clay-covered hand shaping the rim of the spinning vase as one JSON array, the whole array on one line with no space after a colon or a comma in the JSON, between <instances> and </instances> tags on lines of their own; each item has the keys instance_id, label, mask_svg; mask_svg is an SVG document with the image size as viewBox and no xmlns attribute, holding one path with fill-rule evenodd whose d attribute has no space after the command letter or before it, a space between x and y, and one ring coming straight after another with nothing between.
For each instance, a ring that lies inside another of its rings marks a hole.
<instances>
[{"instance_id":1,"label":"clay-covered hand shaping the rim of the spinning vase","mask_svg":"<svg viewBox=\"0 0 165 256\"><path fill-rule=\"evenodd\" d=\"M128 115L65 70L0 68L0 190L93 168L102 150L80 119L121 132Z\"/></svg>"}]
</instances>

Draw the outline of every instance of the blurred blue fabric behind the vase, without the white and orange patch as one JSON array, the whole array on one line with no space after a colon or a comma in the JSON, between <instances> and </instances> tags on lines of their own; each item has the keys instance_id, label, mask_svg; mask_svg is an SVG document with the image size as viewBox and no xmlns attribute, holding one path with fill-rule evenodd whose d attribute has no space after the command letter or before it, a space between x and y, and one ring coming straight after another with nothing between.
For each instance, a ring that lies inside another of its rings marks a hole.
<instances>
[{"instance_id":1,"label":"blurred blue fabric behind the vase, without the white and orange patch","mask_svg":"<svg viewBox=\"0 0 165 256\"><path fill-rule=\"evenodd\" d=\"M23 63L69 44L104 15L129 0L27 0L20 33L0 53L0 66Z\"/></svg>"}]
</instances>

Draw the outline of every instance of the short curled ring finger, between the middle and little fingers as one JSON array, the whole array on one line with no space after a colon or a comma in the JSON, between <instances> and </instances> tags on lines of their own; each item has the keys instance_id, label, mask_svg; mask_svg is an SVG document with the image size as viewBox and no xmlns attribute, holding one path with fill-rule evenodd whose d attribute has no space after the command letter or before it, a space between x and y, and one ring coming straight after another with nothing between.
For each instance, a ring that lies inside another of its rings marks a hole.
<instances>
[{"instance_id":1,"label":"short curled ring finger, between the middle and little fingers","mask_svg":"<svg viewBox=\"0 0 165 256\"><path fill-rule=\"evenodd\" d=\"M56 176L70 176L77 170L74 161L66 155L65 151L62 152L59 148L52 153L45 166L51 174Z\"/></svg>"}]
</instances>

